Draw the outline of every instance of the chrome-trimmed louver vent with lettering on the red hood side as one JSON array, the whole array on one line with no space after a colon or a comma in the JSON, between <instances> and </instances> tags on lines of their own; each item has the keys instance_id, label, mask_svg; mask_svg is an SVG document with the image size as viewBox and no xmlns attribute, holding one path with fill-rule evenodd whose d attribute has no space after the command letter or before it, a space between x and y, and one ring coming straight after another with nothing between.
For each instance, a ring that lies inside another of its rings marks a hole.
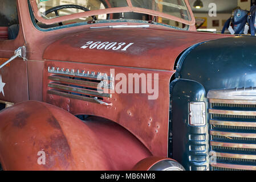
<instances>
[{"instance_id":1,"label":"chrome-trimmed louver vent with lettering on the red hood side","mask_svg":"<svg viewBox=\"0 0 256 182\"><path fill-rule=\"evenodd\" d=\"M108 105L105 99L112 94L104 93L104 89L113 89L113 78L105 73L75 72L74 69L48 67L48 94Z\"/></svg>"}]
</instances>

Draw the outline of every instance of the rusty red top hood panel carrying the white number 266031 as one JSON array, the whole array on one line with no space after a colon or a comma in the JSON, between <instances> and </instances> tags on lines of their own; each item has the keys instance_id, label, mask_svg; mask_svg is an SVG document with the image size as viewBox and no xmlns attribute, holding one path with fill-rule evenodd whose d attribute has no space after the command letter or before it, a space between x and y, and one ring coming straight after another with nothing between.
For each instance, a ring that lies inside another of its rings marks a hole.
<instances>
[{"instance_id":1,"label":"rusty red top hood panel carrying the white number 266031","mask_svg":"<svg viewBox=\"0 0 256 182\"><path fill-rule=\"evenodd\" d=\"M208 40L225 38L192 31L156 28L98 28L67 36L46 48L46 60L75 61L124 67L173 70L176 58L186 48ZM81 48L87 42L134 43L127 51Z\"/></svg>"}]
</instances>

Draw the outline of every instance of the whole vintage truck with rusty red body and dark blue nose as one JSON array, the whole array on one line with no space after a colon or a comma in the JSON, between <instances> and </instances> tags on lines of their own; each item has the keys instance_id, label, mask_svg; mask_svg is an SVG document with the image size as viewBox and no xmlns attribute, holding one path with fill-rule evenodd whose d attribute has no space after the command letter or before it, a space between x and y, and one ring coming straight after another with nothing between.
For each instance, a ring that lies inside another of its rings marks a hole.
<instances>
[{"instance_id":1,"label":"whole vintage truck with rusty red body and dark blue nose","mask_svg":"<svg viewBox=\"0 0 256 182\"><path fill-rule=\"evenodd\" d=\"M256 169L256 38L194 24L188 0L2 0L2 169Z\"/></svg>"}]
</instances>

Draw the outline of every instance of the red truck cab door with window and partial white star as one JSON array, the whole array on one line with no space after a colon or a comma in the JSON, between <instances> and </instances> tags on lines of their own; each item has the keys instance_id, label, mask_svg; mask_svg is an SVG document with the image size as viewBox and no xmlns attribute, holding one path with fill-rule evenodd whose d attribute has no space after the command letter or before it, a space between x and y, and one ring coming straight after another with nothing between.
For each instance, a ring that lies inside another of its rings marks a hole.
<instances>
[{"instance_id":1,"label":"red truck cab door with window and partial white star","mask_svg":"<svg viewBox=\"0 0 256 182\"><path fill-rule=\"evenodd\" d=\"M0 65L25 45L16 0L0 1ZM0 103L29 100L27 63L14 59L0 69Z\"/></svg>"}]
</instances>

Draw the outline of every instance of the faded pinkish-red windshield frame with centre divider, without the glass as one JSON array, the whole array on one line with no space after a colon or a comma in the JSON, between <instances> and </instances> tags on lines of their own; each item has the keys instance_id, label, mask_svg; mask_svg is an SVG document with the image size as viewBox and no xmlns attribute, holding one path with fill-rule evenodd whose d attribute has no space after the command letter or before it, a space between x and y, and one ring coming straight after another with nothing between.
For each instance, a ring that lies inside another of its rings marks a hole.
<instances>
[{"instance_id":1,"label":"faded pinkish-red windshield frame with centre divider, without the glass","mask_svg":"<svg viewBox=\"0 0 256 182\"><path fill-rule=\"evenodd\" d=\"M191 17L190 21L182 19L182 18L178 18L178 17L173 16L173 15L161 13L159 11L153 11L153 10L143 9L143 8L140 8L140 7L134 7L134 6L132 6L131 0L127 0L127 4L128 4L127 7L111 7L111 8L108 8L108 9L85 11L85 12L82 12L82 13L60 16L58 18L44 19L42 17L42 15L40 15L38 13L38 6L37 6L37 3L36 3L36 0L30 0L30 3L31 3L32 11L34 13L35 18L39 22L44 23L44 24L55 24L55 23L60 23L60 22L72 20L72 19L78 19L78 18L85 17L85 16L94 16L94 15L99 15L99 14L133 12L133 13L149 14L149 15L152 15L152 16L161 16L162 18L172 19L174 21L187 24L188 26L194 26L194 24L196 23L196 20L194 19L192 9L189 6L188 0L184 0L184 1L186 3L186 7L188 8L188 11L189 11L189 14L190 14L190 17Z\"/></svg>"}]
</instances>

